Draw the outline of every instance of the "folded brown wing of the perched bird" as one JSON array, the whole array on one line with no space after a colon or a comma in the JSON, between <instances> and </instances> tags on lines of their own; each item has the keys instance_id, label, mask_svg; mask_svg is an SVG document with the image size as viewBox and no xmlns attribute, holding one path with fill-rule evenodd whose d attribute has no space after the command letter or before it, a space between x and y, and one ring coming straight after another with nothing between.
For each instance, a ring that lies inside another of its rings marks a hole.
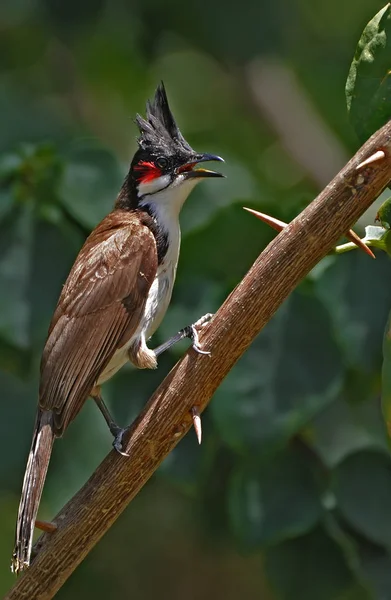
<instances>
[{"instance_id":1,"label":"folded brown wing of the perched bird","mask_svg":"<svg viewBox=\"0 0 391 600\"><path fill-rule=\"evenodd\" d=\"M39 404L61 434L117 348L134 334L157 270L153 234L116 210L81 249L57 304L41 362Z\"/></svg>"}]
</instances>

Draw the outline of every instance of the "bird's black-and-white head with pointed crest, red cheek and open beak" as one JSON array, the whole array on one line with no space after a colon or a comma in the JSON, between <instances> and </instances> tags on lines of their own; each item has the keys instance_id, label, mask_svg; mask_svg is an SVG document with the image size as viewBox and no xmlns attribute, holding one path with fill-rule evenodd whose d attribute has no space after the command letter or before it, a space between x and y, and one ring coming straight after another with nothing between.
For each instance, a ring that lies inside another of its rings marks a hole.
<instances>
[{"instance_id":1,"label":"bird's black-and-white head with pointed crest, red cheek and open beak","mask_svg":"<svg viewBox=\"0 0 391 600\"><path fill-rule=\"evenodd\" d=\"M137 205L165 204L180 211L193 187L203 179L224 177L200 168L206 161L222 161L214 154L195 152L186 142L168 105L163 83L153 102L147 102L146 119L137 115L139 148L132 160L128 183Z\"/></svg>"}]
</instances>

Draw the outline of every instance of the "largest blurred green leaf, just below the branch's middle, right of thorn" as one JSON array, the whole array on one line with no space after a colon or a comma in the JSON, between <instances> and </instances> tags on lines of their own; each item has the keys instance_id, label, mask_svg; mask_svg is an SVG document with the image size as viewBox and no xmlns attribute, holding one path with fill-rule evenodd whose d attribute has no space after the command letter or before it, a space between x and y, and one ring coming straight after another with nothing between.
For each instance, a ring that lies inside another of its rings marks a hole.
<instances>
[{"instance_id":1,"label":"largest blurred green leaf, just below the branch's middle, right of thorn","mask_svg":"<svg viewBox=\"0 0 391 600\"><path fill-rule=\"evenodd\" d=\"M342 378L327 311L296 291L217 390L218 431L237 451L273 450L336 398Z\"/></svg>"}]
</instances>

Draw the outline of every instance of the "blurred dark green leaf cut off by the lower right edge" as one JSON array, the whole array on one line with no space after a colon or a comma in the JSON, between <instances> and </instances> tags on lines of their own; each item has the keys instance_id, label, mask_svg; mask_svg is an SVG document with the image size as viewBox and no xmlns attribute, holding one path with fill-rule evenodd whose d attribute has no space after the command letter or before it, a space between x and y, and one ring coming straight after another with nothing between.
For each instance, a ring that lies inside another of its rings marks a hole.
<instances>
[{"instance_id":1,"label":"blurred dark green leaf cut off by the lower right edge","mask_svg":"<svg viewBox=\"0 0 391 600\"><path fill-rule=\"evenodd\" d=\"M358 452L334 471L340 513L372 542L391 547L391 461L384 453Z\"/></svg>"}]
</instances>

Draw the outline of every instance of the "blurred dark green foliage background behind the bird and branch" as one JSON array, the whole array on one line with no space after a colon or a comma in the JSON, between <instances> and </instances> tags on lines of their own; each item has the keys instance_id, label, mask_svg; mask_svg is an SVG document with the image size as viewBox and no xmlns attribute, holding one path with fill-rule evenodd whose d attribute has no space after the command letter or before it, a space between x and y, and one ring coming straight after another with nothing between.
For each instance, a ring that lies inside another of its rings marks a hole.
<instances>
[{"instance_id":1,"label":"blurred dark green foliage background behind the bird and branch","mask_svg":"<svg viewBox=\"0 0 391 600\"><path fill-rule=\"evenodd\" d=\"M115 200L136 112L163 79L189 142L222 155L182 213L177 284L154 343L215 311L274 233L358 147L345 80L383 2L0 3L0 592L62 283ZM391 58L390 58L391 62ZM373 220L373 211L363 223ZM235 241L233 241L235 240ZM391 599L391 461L380 411L391 265L328 256L56 597ZM138 414L186 348L104 390ZM55 445L50 519L111 449L88 402Z\"/></svg>"}]
</instances>

